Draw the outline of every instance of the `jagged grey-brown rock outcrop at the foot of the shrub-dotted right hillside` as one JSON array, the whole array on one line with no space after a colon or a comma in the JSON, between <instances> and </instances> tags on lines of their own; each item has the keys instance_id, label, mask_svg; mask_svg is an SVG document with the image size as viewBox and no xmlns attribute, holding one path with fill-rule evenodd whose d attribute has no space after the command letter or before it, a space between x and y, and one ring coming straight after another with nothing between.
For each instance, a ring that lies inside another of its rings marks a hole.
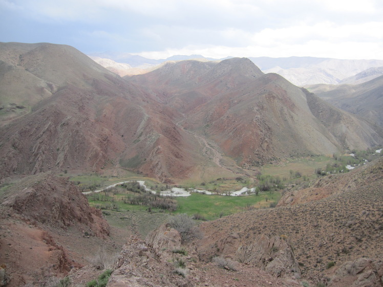
<instances>
[{"instance_id":1,"label":"jagged grey-brown rock outcrop at the foot of the shrub-dotted right hillside","mask_svg":"<svg viewBox=\"0 0 383 287\"><path fill-rule=\"evenodd\" d=\"M294 252L283 236L268 238L262 235L253 244L240 246L235 258L239 262L253 264L277 277L287 275L301 277Z\"/></svg>"}]
</instances>

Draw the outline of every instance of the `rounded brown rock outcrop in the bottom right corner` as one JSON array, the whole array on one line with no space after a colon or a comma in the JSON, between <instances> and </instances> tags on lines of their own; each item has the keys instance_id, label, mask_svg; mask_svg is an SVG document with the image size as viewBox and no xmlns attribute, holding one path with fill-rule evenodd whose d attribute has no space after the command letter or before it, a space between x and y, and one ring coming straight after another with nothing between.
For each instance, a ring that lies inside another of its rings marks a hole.
<instances>
[{"instance_id":1,"label":"rounded brown rock outcrop in the bottom right corner","mask_svg":"<svg viewBox=\"0 0 383 287\"><path fill-rule=\"evenodd\" d=\"M369 258L348 261L335 271L329 286L381 287L383 286L383 261Z\"/></svg>"}]
</instances>

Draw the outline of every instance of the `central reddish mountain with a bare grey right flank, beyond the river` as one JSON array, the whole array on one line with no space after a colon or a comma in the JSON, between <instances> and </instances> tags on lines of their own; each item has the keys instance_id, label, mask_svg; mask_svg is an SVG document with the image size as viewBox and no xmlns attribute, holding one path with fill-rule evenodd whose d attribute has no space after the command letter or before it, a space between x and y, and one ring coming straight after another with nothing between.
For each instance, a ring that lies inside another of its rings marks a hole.
<instances>
[{"instance_id":1,"label":"central reddish mountain with a bare grey right flank, beyond the river","mask_svg":"<svg viewBox=\"0 0 383 287\"><path fill-rule=\"evenodd\" d=\"M169 63L130 80L178 111L185 129L217 143L238 165L380 141L367 123L279 75L262 73L246 58Z\"/></svg>"}]
</instances>

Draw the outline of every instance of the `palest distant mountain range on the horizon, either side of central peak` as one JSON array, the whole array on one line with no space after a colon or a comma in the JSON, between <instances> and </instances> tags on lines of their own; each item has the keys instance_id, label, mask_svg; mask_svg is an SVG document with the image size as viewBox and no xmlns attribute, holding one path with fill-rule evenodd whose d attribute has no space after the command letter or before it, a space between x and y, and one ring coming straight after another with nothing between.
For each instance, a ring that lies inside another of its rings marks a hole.
<instances>
[{"instance_id":1,"label":"palest distant mountain range on the horizon, either side of central peak","mask_svg":"<svg viewBox=\"0 0 383 287\"><path fill-rule=\"evenodd\" d=\"M90 56L103 67L111 67L119 75L136 75L152 71L166 61L196 59L200 61L219 61L228 59L205 58L202 55L177 55L167 59L153 60L137 55L99 54L102 58L112 58L114 64L105 65L99 57ZM358 84L382 75L382 60L341 60L315 57L249 57L264 73L277 73L297 86L310 84ZM129 63L134 68L117 68L121 63Z\"/></svg>"}]
</instances>

